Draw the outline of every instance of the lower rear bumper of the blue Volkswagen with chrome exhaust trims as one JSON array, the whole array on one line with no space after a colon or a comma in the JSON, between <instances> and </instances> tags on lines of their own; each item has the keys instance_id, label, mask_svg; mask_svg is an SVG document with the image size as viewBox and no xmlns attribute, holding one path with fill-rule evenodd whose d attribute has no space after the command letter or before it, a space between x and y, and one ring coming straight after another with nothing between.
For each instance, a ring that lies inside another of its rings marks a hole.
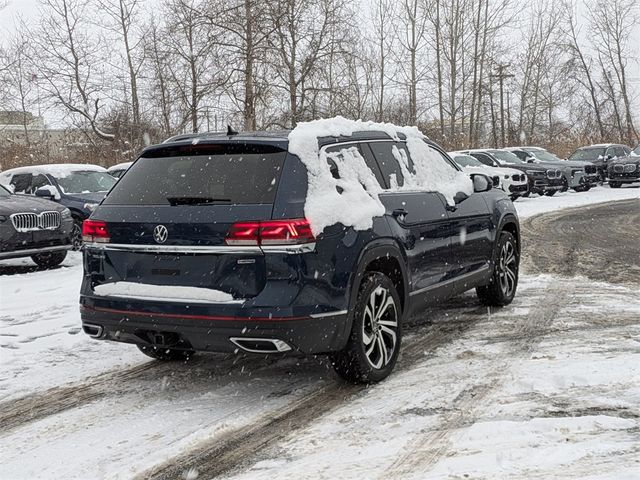
<instances>
[{"instance_id":1,"label":"lower rear bumper of the blue Volkswagen with chrome exhaust trims","mask_svg":"<svg viewBox=\"0 0 640 480\"><path fill-rule=\"evenodd\" d=\"M349 331L346 311L306 316L174 315L88 303L81 299L80 314L86 333L99 332L94 338L166 348L234 352L240 350L238 339L246 338L278 340L290 350L319 354L344 348Z\"/></svg>"}]
</instances>

